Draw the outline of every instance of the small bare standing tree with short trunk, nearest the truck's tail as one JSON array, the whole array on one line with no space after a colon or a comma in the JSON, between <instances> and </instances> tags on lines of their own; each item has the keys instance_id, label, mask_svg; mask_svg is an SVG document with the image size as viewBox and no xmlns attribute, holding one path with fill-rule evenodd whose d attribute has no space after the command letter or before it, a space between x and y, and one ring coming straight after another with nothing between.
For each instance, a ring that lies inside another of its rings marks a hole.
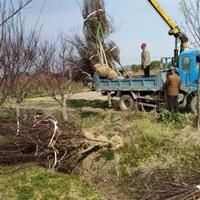
<instances>
[{"instance_id":1,"label":"small bare standing tree with short trunk, nearest the truck's tail","mask_svg":"<svg viewBox=\"0 0 200 200\"><path fill-rule=\"evenodd\" d=\"M61 36L59 52L56 52L54 45L45 43L41 53L43 75L39 82L62 107L63 119L67 121L67 101L72 94L72 84L77 73L74 47Z\"/></svg>"}]
</instances>

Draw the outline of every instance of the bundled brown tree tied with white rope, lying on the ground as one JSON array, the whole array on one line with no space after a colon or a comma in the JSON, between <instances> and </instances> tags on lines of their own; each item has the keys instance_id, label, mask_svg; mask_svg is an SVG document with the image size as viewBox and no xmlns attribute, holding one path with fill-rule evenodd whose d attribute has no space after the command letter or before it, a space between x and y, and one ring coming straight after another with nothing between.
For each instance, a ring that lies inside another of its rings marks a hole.
<instances>
[{"instance_id":1,"label":"bundled brown tree tied with white rope, lying on the ground","mask_svg":"<svg viewBox=\"0 0 200 200\"><path fill-rule=\"evenodd\" d=\"M109 141L84 136L73 122L59 123L42 113L34 116L32 124L24 122L21 125L16 135L15 121L1 120L1 133L10 141L0 146L1 165L34 162L49 169L71 172L89 154L111 147Z\"/></svg>"}]
</instances>

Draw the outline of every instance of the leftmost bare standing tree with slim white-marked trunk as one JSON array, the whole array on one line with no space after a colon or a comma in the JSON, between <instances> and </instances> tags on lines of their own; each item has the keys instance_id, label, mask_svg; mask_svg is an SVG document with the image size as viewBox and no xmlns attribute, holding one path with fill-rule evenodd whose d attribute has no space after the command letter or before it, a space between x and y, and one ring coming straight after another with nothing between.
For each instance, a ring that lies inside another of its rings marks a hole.
<instances>
[{"instance_id":1,"label":"leftmost bare standing tree with slim white-marked trunk","mask_svg":"<svg viewBox=\"0 0 200 200\"><path fill-rule=\"evenodd\" d=\"M0 66L4 71L3 85L6 95L15 101L17 133L19 133L21 103L40 72L39 66L36 65L39 35L35 30L28 35L25 34L20 15L4 26L4 31L6 34L1 44Z\"/></svg>"}]
</instances>

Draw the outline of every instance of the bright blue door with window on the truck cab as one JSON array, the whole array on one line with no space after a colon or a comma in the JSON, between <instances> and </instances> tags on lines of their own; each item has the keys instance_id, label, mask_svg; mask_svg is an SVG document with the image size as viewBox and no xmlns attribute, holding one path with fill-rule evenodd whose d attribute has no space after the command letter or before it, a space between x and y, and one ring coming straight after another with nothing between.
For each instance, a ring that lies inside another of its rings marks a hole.
<instances>
[{"instance_id":1,"label":"bright blue door with window on the truck cab","mask_svg":"<svg viewBox=\"0 0 200 200\"><path fill-rule=\"evenodd\" d=\"M180 57L179 61L179 76L181 78L182 86L190 86L191 73L194 66L194 58L190 55L184 55Z\"/></svg>"}]
</instances>

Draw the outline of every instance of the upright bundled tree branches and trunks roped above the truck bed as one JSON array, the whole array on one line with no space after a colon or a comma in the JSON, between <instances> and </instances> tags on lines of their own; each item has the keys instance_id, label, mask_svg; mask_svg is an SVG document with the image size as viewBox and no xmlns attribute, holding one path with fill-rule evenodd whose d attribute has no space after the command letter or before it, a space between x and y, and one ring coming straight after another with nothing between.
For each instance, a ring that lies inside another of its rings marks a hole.
<instances>
[{"instance_id":1,"label":"upright bundled tree branches and trunks roped above the truck bed","mask_svg":"<svg viewBox=\"0 0 200 200\"><path fill-rule=\"evenodd\" d=\"M80 56L82 70L93 75L95 65L109 66L112 75L117 75L116 63L120 64L117 45L108 40L114 32L110 18L106 14L103 0L84 0L82 6L84 37L75 34L71 43Z\"/></svg>"}]
</instances>

